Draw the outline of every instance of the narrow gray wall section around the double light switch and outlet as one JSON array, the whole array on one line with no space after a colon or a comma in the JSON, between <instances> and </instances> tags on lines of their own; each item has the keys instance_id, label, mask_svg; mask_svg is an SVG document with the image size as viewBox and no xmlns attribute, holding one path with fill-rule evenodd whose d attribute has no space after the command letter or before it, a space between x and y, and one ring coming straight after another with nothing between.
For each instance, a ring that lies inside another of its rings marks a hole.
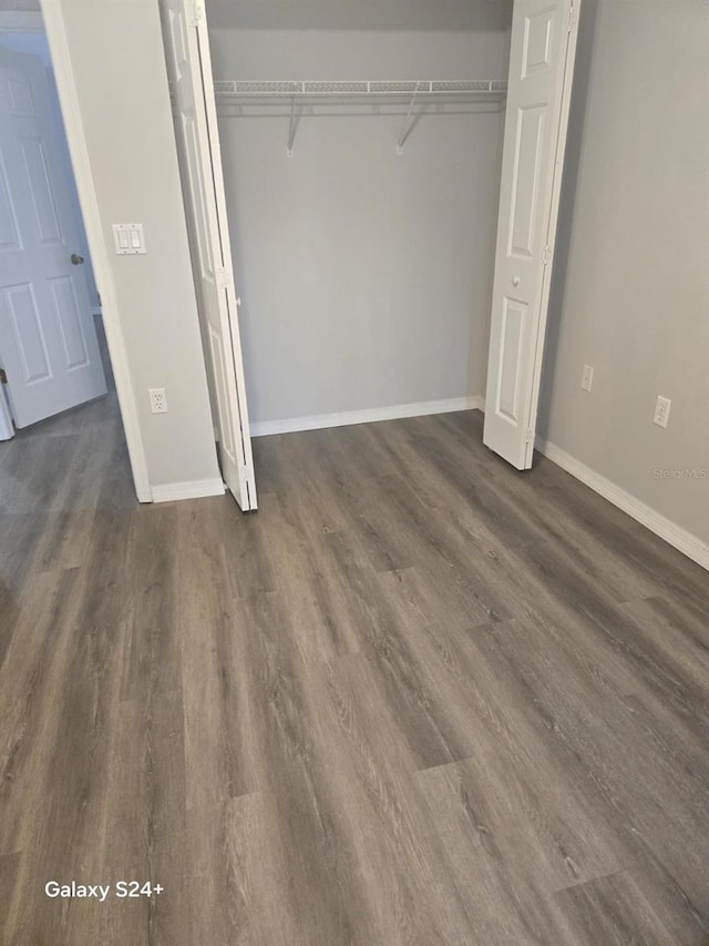
<instances>
[{"instance_id":1,"label":"narrow gray wall section around the double light switch and outlet","mask_svg":"<svg viewBox=\"0 0 709 946\"><path fill-rule=\"evenodd\" d=\"M152 485L218 476L156 2L60 0ZM141 222L144 256L112 223ZM150 411L164 387L168 414Z\"/></svg>"}]
</instances>

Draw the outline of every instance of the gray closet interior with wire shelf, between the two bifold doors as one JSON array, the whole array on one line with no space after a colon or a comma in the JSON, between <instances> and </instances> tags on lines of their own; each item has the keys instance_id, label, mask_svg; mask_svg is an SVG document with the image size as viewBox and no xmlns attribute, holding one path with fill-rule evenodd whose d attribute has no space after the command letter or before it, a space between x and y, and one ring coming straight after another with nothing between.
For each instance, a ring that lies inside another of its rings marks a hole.
<instances>
[{"instance_id":1,"label":"gray closet interior with wire shelf, between the two bifold doors","mask_svg":"<svg viewBox=\"0 0 709 946\"><path fill-rule=\"evenodd\" d=\"M479 406L511 0L206 13L251 434Z\"/></svg>"}]
</instances>

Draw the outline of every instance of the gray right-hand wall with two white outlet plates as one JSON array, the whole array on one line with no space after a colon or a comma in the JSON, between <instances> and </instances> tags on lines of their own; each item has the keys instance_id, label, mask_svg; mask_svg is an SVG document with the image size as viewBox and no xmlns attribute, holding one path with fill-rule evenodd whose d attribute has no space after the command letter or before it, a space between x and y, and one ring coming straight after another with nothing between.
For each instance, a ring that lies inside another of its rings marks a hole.
<instances>
[{"instance_id":1,"label":"gray right-hand wall with two white outlet plates","mask_svg":"<svg viewBox=\"0 0 709 946\"><path fill-rule=\"evenodd\" d=\"M579 29L540 434L709 541L709 478L656 472L709 470L709 3L584 0Z\"/></svg>"}]
</instances>

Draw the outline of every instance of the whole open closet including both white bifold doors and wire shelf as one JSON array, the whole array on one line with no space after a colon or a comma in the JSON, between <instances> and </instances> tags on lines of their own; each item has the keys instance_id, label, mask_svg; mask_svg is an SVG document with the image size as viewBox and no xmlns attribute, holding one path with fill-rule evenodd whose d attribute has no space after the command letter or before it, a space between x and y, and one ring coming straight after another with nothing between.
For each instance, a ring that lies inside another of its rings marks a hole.
<instances>
[{"instance_id":1,"label":"whole open closet including both white bifold doors and wire shelf","mask_svg":"<svg viewBox=\"0 0 709 946\"><path fill-rule=\"evenodd\" d=\"M251 435L485 405L532 459L578 0L340 8L161 0L243 509Z\"/></svg>"}]
</instances>

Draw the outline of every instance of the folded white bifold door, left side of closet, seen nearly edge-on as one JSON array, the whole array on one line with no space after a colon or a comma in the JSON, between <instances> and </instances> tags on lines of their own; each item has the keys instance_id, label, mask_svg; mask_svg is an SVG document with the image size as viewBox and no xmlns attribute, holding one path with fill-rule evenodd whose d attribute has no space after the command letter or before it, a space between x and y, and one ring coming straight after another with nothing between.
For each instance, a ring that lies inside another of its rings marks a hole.
<instances>
[{"instance_id":1,"label":"folded white bifold door, left side of closet, seen nearly edge-on","mask_svg":"<svg viewBox=\"0 0 709 946\"><path fill-rule=\"evenodd\" d=\"M160 7L222 475L246 512L256 509L256 480L206 13L203 0Z\"/></svg>"}]
</instances>

